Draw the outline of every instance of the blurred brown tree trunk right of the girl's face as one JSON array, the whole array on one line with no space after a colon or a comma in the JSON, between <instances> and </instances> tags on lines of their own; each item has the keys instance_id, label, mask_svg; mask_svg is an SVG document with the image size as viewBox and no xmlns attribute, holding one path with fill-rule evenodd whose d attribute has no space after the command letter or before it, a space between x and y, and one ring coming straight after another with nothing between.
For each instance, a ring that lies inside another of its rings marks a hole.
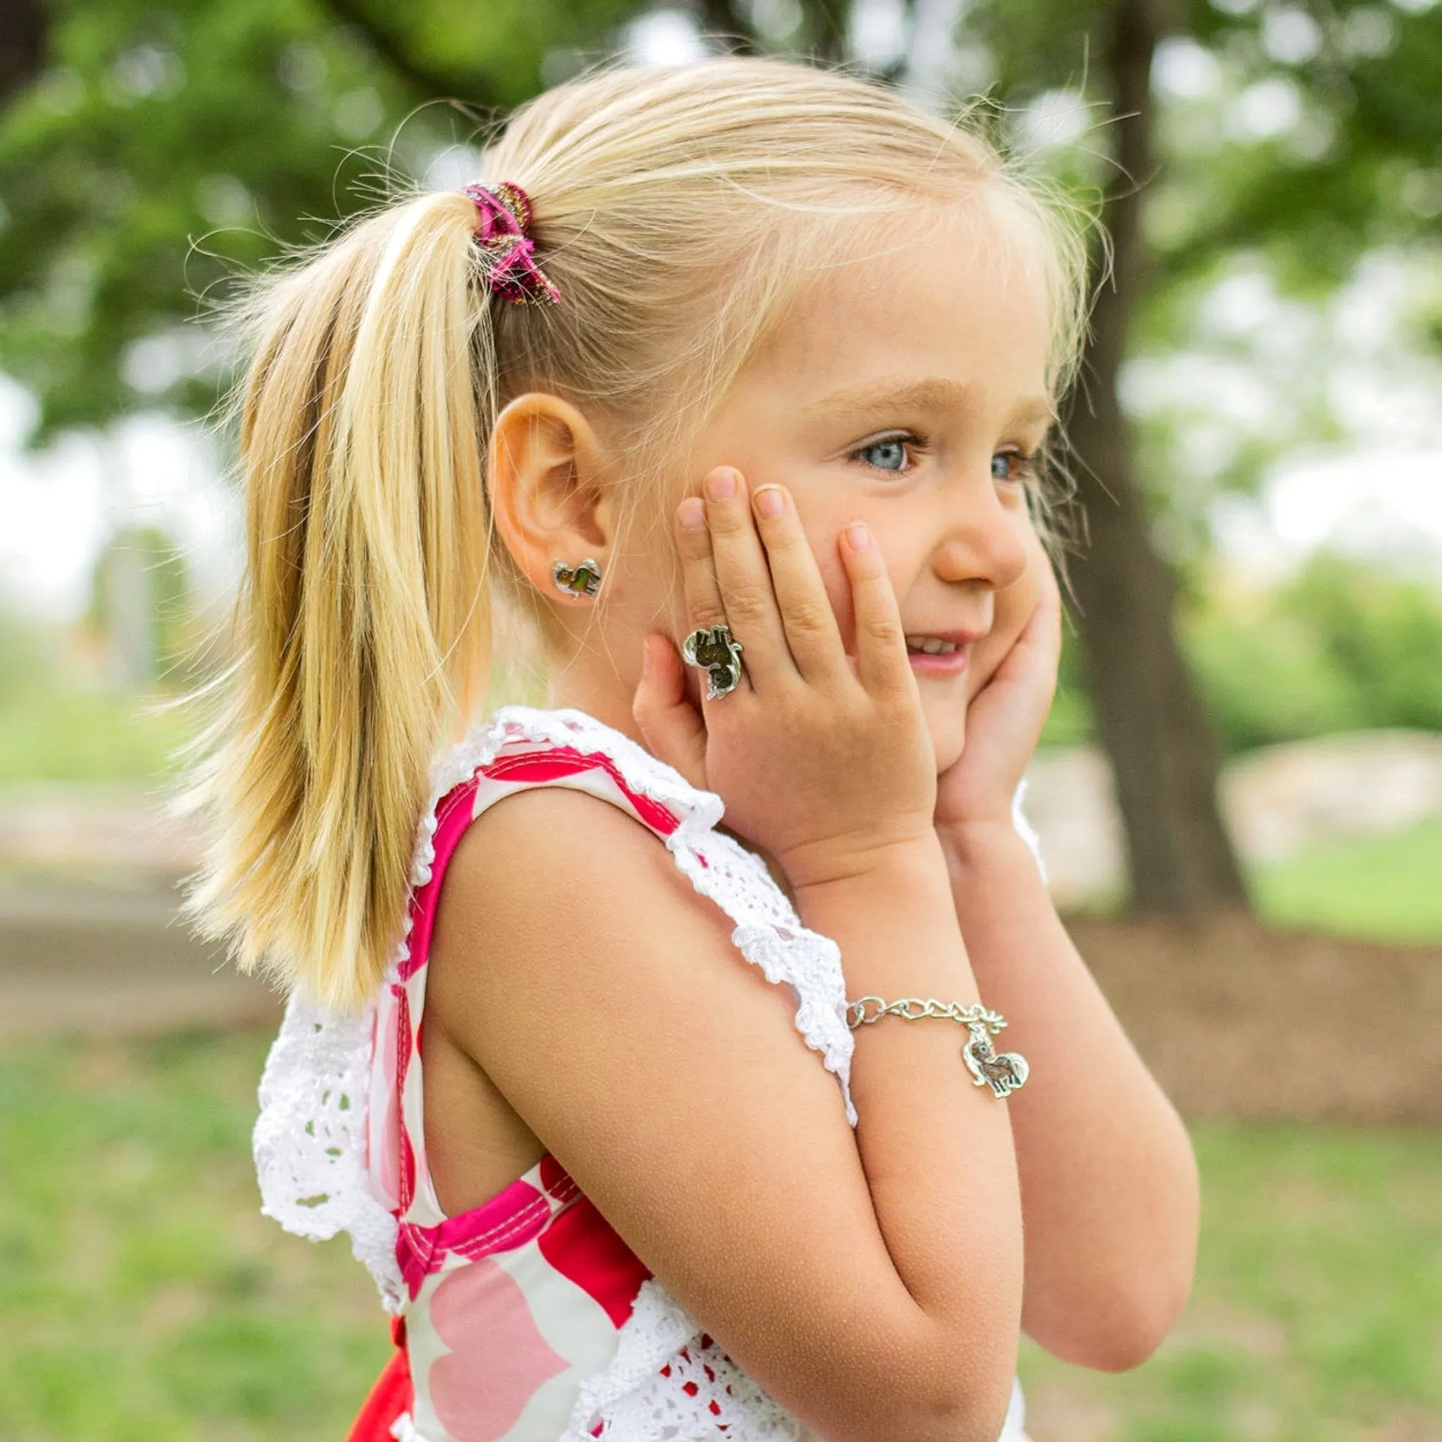
<instances>
[{"instance_id":1,"label":"blurred brown tree trunk right of the girl's face","mask_svg":"<svg viewBox=\"0 0 1442 1442\"><path fill-rule=\"evenodd\" d=\"M1155 0L1119 0L1103 65L1119 173L1103 222L1113 278L1097 296L1082 382L1066 418L1087 544L1073 561L1083 660L1126 829L1132 906L1194 913L1244 907L1217 808L1217 747L1177 643L1175 585L1155 551L1118 401L1128 322L1146 283L1141 187L1155 170L1149 76Z\"/></svg>"}]
</instances>

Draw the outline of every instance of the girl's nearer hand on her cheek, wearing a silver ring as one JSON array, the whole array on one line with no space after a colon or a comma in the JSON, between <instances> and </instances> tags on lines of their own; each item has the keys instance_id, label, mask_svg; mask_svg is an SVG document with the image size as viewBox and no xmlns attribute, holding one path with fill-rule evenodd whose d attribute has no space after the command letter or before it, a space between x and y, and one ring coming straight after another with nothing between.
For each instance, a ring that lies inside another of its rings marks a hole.
<instances>
[{"instance_id":1,"label":"girl's nearer hand on her cheek, wearing a silver ring","mask_svg":"<svg viewBox=\"0 0 1442 1442\"><path fill-rule=\"evenodd\" d=\"M743 676L698 712L675 642L647 636L633 705L646 744L717 792L727 823L797 890L867 871L898 844L934 845L936 753L875 541L859 525L838 539L852 660L790 495L748 497L722 467L705 497L676 513L686 630L728 624Z\"/></svg>"}]
</instances>

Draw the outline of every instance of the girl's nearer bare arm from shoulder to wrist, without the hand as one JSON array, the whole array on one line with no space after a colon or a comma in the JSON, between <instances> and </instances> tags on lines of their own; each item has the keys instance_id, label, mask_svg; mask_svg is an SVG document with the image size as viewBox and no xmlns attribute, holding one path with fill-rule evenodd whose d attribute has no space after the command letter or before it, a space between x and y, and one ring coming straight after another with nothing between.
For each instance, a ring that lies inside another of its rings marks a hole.
<instances>
[{"instance_id":1,"label":"girl's nearer bare arm from shoulder to wrist, without the hand","mask_svg":"<svg viewBox=\"0 0 1442 1442\"><path fill-rule=\"evenodd\" d=\"M805 910L862 988L976 996L934 842ZM430 968L428 1035L770 1396L826 1442L995 1442L1021 1208L1011 1103L970 1084L962 1028L859 1028L854 1133L790 988L740 956L650 832L577 792L528 790L472 825ZM482 1200L446 1182L453 1211Z\"/></svg>"}]
</instances>

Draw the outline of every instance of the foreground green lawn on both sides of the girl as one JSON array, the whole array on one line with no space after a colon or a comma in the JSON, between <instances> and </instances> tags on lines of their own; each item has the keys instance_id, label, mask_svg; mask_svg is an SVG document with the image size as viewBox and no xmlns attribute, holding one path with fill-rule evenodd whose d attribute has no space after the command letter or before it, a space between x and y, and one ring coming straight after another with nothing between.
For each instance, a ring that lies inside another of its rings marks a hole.
<instances>
[{"instance_id":1,"label":"foreground green lawn on both sides of the girl","mask_svg":"<svg viewBox=\"0 0 1442 1442\"><path fill-rule=\"evenodd\" d=\"M267 1037L0 1053L0 1438L339 1439L389 1341L257 1210ZM1442 1136L1207 1126L1197 1289L1120 1377L1028 1347L1037 1442L1442 1436Z\"/></svg>"}]
</instances>

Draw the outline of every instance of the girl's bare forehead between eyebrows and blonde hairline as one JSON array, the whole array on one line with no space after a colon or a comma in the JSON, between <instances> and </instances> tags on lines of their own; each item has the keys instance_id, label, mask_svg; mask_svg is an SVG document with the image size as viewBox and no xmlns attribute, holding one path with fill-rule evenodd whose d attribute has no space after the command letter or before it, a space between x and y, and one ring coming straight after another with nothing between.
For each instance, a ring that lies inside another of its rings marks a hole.
<instances>
[{"instance_id":1,"label":"girl's bare forehead between eyebrows and blonde hairline","mask_svg":"<svg viewBox=\"0 0 1442 1442\"><path fill-rule=\"evenodd\" d=\"M979 205L885 229L802 293L744 388L806 412L828 402L855 411L868 392L900 388L932 405L963 392L985 410L1048 405L1035 238Z\"/></svg>"}]
</instances>

